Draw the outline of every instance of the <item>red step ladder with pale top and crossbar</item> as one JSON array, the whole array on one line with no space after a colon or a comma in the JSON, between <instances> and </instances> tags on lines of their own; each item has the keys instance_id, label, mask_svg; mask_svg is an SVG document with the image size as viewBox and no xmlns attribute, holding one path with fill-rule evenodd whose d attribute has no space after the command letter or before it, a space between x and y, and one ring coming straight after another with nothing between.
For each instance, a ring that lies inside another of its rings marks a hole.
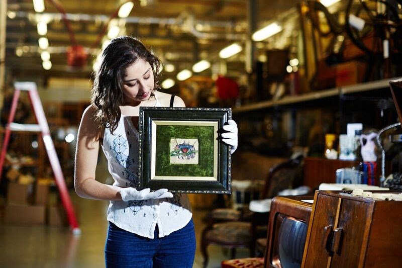
<instances>
[{"instance_id":1,"label":"red step ladder with pale top and crossbar","mask_svg":"<svg viewBox=\"0 0 402 268\"><path fill-rule=\"evenodd\" d=\"M67 191L67 187L64 181L63 172L61 170L59 158L57 157L56 149L54 148L52 137L50 136L49 125L46 120L45 112L43 111L42 103L39 98L38 90L35 82L15 82L14 83L15 92L13 96L13 102L11 105L10 115L8 124L6 126L2 154L0 155L0 180L2 178L4 162L6 158L7 147L10 141L11 131L36 131L42 132L43 143L45 144L46 152L49 157L50 165L52 166L53 173L55 176L56 186L59 189L60 198L63 207L67 213L67 219L72 228L72 233L74 235L80 235L81 230L78 227L78 222L75 217L74 208L71 203L70 196ZM31 101L32 108L35 113L38 125L35 124L17 124L13 123L18 99L20 98L21 91L27 91L29 99Z\"/></svg>"}]
</instances>

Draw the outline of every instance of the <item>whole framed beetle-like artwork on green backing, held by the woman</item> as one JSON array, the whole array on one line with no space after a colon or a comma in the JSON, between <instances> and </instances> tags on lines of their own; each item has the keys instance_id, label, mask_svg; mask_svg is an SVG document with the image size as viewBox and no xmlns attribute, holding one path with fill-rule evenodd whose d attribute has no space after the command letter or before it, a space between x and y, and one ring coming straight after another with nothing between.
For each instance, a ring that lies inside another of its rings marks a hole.
<instances>
[{"instance_id":1,"label":"whole framed beetle-like artwork on green backing, held by the woman","mask_svg":"<svg viewBox=\"0 0 402 268\"><path fill-rule=\"evenodd\" d=\"M140 107L140 189L231 193L230 147L220 131L230 108Z\"/></svg>"}]
</instances>

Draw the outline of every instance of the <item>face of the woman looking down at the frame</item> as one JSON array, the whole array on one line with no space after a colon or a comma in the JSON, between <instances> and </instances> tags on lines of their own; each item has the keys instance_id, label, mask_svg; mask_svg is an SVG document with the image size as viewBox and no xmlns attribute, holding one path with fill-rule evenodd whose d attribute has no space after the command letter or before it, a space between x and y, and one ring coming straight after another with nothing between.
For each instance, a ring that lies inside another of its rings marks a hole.
<instances>
[{"instance_id":1,"label":"face of the woman looking down at the frame","mask_svg":"<svg viewBox=\"0 0 402 268\"><path fill-rule=\"evenodd\" d=\"M154 74L148 61L138 59L127 67L123 78L125 104L137 105L148 101L155 86Z\"/></svg>"}]
</instances>

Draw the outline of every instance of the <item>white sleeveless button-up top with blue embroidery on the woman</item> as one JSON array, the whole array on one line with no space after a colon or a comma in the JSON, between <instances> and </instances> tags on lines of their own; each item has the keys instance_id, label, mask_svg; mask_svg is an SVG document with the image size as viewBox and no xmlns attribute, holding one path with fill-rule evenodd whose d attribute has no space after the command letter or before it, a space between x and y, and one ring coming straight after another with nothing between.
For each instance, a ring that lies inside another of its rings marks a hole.
<instances>
[{"instance_id":1,"label":"white sleeveless button-up top with blue embroidery on the woman","mask_svg":"<svg viewBox=\"0 0 402 268\"><path fill-rule=\"evenodd\" d=\"M161 107L156 99L155 107ZM102 149L109 163L113 185L136 187L138 185L138 130L130 116L122 115L113 135L105 129ZM167 187L169 189L169 187ZM126 231L154 238L157 224L159 237L183 228L192 217L186 194L173 193L173 198L110 201L108 221Z\"/></svg>"}]
</instances>

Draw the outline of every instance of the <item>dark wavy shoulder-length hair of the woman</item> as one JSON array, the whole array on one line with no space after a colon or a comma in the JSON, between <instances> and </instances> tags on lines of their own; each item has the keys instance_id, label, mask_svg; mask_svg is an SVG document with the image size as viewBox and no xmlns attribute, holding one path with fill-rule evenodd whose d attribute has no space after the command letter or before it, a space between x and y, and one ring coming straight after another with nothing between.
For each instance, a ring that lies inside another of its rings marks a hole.
<instances>
[{"instance_id":1,"label":"dark wavy shoulder-length hair of the woman","mask_svg":"<svg viewBox=\"0 0 402 268\"><path fill-rule=\"evenodd\" d=\"M123 84L126 68L138 59L148 61L154 74L155 88L160 88L160 60L138 39L121 36L111 40L102 54L102 62L95 72L91 104L96 108L95 120L99 127L109 127L113 133L119 123L124 104Z\"/></svg>"}]
</instances>

